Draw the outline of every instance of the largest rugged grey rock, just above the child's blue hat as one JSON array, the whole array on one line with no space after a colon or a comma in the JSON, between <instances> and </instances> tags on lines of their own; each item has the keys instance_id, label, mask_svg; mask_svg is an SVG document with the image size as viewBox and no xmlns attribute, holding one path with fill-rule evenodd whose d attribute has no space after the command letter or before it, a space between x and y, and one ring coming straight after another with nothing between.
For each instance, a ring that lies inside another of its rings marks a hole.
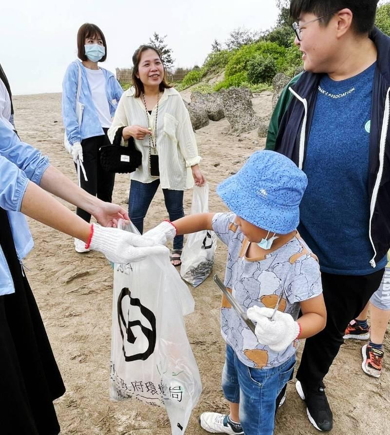
<instances>
[{"instance_id":1,"label":"largest rugged grey rock, just above the child's blue hat","mask_svg":"<svg viewBox=\"0 0 390 435\"><path fill-rule=\"evenodd\" d=\"M252 97L252 92L247 88L232 87L223 92L223 111L236 133L251 131L259 124L252 106Z\"/></svg>"}]
</instances>

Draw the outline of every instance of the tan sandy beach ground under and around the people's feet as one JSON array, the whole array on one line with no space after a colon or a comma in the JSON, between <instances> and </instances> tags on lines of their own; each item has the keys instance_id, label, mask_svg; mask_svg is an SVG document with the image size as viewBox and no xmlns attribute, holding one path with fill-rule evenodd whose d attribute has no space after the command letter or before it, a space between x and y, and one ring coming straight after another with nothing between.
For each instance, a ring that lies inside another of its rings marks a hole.
<instances>
[{"instance_id":1,"label":"tan sandy beach ground under and around the people's feet","mask_svg":"<svg viewBox=\"0 0 390 435\"><path fill-rule=\"evenodd\" d=\"M188 99L188 92L183 98ZM254 109L259 116L271 112L271 92L255 94ZM20 137L47 154L51 163L76 181L73 161L63 147L61 94L14 97L15 122ZM201 169L210 184L210 211L225 211L215 193L216 185L235 173L245 160L265 145L257 131L227 134L226 119L210 121L196 131ZM118 175L113 201L127 208L129 175ZM185 192L189 213L192 191ZM68 204L67 204L68 205ZM69 205L68 205L69 206ZM72 208L74 210L74 208ZM167 218L161 189L145 219L145 229ZM99 253L77 254L73 239L29 220L35 248L25 260L27 276L66 386L65 395L55 403L61 435L169 435L168 417L163 409L137 401L113 402L108 397L111 345L113 270ZM225 273L226 248L218 243L214 273ZM186 434L206 434L198 424L204 411L227 412L220 389L224 342L219 332L220 292L211 277L196 289L195 312L186 318L189 341L199 366L203 393ZM390 434L390 340L385 339L384 371L380 379L361 369L361 345L346 342L325 378L335 435ZM299 357L303 342L298 351ZM285 404L276 417L275 435L318 434L306 416L306 406L289 382Z\"/></svg>"}]
</instances>

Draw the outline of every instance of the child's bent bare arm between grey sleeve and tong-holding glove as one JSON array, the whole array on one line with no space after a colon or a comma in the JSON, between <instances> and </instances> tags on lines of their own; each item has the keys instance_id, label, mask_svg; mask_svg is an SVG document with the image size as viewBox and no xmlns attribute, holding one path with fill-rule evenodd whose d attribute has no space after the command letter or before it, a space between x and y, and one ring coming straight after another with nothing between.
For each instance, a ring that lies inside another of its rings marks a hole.
<instances>
[{"instance_id":1,"label":"child's bent bare arm between grey sleeve and tong-holding glove","mask_svg":"<svg viewBox=\"0 0 390 435\"><path fill-rule=\"evenodd\" d=\"M298 338L308 338L322 331L326 325L326 308L322 294L300 302L303 315L297 320L301 327Z\"/></svg>"}]
</instances>

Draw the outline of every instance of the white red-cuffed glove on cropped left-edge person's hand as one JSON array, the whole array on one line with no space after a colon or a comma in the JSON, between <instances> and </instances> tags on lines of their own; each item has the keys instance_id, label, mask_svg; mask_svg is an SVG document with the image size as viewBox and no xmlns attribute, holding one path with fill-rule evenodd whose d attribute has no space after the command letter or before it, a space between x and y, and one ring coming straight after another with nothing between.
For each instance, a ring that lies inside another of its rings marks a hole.
<instances>
[{"instance_id":1,"label":"white red-cuffed glove on cropped left-edge person's hand","mask_svg":"<svg viewBox=\"0 0 390 435\"><path fill-rule=\"evenodd\" d=\"M93 224L89 248L101 252L113 263L127 264L141 261L149 255L169 252L165 246L153 245L152 239L138 234Z\"/></svg>"}]
</instances>

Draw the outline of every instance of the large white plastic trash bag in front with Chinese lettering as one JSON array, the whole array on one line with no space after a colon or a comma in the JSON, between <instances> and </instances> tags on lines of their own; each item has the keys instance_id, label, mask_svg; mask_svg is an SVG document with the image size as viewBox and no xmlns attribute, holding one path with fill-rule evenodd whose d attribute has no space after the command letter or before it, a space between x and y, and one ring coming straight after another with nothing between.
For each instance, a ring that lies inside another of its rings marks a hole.
<instances>
[{"instance_id":1,"label":"large white plastic trash bag in front with Chinese lettering","mask_svg":"<svg viewBox=\"0 0 390 435\"><path fill-rule=\"evenodd\" d=\"M137 233L133 224L123 229ZM202 391L184 318L194 299L166 255L114 266L110 399L164 406L184 434Z\"/></svg>"}]
</instances>

